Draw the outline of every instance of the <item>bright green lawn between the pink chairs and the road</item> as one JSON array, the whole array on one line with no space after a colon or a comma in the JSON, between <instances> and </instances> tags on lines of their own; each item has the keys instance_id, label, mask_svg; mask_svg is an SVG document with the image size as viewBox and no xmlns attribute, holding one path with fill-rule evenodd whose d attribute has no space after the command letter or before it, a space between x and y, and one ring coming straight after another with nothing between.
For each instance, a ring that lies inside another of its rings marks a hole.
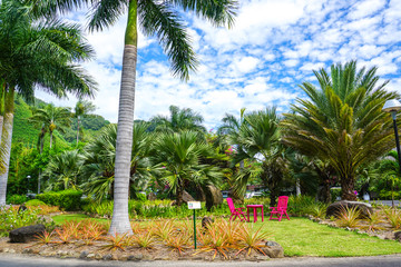
<instances>
[{"instance_id":1,"label":"bright green lawn between the pink chairs and the road","mask_svg":"<svg viewBox=\"0 0 401 267\"><path fill-rule=\"evenodd\" d=\"M306 218L265 220L256 226L265 225L272 233L272 240L284 248L285 256L373 256L400 254L401 244L395 240L382 240L376 237L361 235L326 225L319 225Z\"/></svg>"}]
</instances>

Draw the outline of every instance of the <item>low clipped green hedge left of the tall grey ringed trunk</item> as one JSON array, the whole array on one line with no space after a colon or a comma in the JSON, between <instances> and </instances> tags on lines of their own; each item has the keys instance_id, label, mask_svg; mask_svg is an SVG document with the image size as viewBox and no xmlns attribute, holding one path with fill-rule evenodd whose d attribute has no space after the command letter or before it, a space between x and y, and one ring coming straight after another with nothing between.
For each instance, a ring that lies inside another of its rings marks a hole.
<instances>
[{"instance_id":1,"label":"low clipped green hedge left of the tall grey ringed trunk","mask_svg":"<svg viewBox=\"0 0 401 267\"><path fill-rule=\"evenodd\" d=\"M47 205L59 206L65 210L77 210L81 205L82 192L78 190L49 191L37 195L37 199Z\"/></svg>"}]
</instances>

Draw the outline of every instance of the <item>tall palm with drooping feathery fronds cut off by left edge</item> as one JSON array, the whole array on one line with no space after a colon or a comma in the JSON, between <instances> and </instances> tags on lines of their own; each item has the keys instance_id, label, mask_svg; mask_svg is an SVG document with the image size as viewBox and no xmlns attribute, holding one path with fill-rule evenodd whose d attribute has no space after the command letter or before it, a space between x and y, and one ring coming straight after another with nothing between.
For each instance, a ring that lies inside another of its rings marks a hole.
<instances>
[{"instance_id":1,"label":"tall palm with drooping feathery fronds cut off by left edge","mask_svg":"<svg viewBox=\"0 0 401 267\"><path fill-rule=\"evenodd\" d=\"M33 17L33 3L3 0L0 3L0 116L1 159L0 206L6 204L14 92L33 99L36 88L57 97L67 92L91 96L95 82L74 65L92 57L77 24Z\"/></svg>"}]
</instances>

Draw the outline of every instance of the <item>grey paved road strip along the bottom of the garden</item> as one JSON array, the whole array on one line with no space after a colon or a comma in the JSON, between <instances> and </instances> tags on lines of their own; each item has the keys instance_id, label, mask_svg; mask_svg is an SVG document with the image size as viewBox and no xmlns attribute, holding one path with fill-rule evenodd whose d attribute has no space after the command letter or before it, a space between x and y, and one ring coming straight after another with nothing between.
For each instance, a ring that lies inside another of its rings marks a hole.
<instances>
[{"instance_id":1,"label":"grey paved road strip along the bottom of the garden","mask_svg":"<svg viewBox=\"0 0 401 267\"><path fill-rule=\"evenodd\" d=\"M268 261L87 261L79 259L40 258L36 256L21 256L0 254L0 267L92 267L92 266L121 266L121 267L261 267L261 266L300 266L300 267L401 267L401 255L353 258L285 258Z\"/></svg>"}]
</instances>

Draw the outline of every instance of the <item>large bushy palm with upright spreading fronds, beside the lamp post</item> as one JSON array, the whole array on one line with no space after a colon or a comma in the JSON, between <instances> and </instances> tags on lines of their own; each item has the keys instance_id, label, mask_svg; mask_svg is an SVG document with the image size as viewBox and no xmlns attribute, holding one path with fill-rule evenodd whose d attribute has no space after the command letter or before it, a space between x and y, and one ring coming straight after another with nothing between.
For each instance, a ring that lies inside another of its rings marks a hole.
<instances>
[{"instance_id":1,"label":"large bushy palm with upright spreading fronds, beside the lamp post","mask_svg":"<svg viewBox=\"0 0 401 267\"><path fill-rule=\"evenodd\" d=\"M382 112L398 97L378 85L376 68L356 70L356 62L332 65L331 75L314 71L320 88L303 82L310 98L297 99L282 121L284 141L304 155L329 161L342 187L342 199L355 200L358 168L393 147L392 121Z\"/></svg>"}]
</instances>

